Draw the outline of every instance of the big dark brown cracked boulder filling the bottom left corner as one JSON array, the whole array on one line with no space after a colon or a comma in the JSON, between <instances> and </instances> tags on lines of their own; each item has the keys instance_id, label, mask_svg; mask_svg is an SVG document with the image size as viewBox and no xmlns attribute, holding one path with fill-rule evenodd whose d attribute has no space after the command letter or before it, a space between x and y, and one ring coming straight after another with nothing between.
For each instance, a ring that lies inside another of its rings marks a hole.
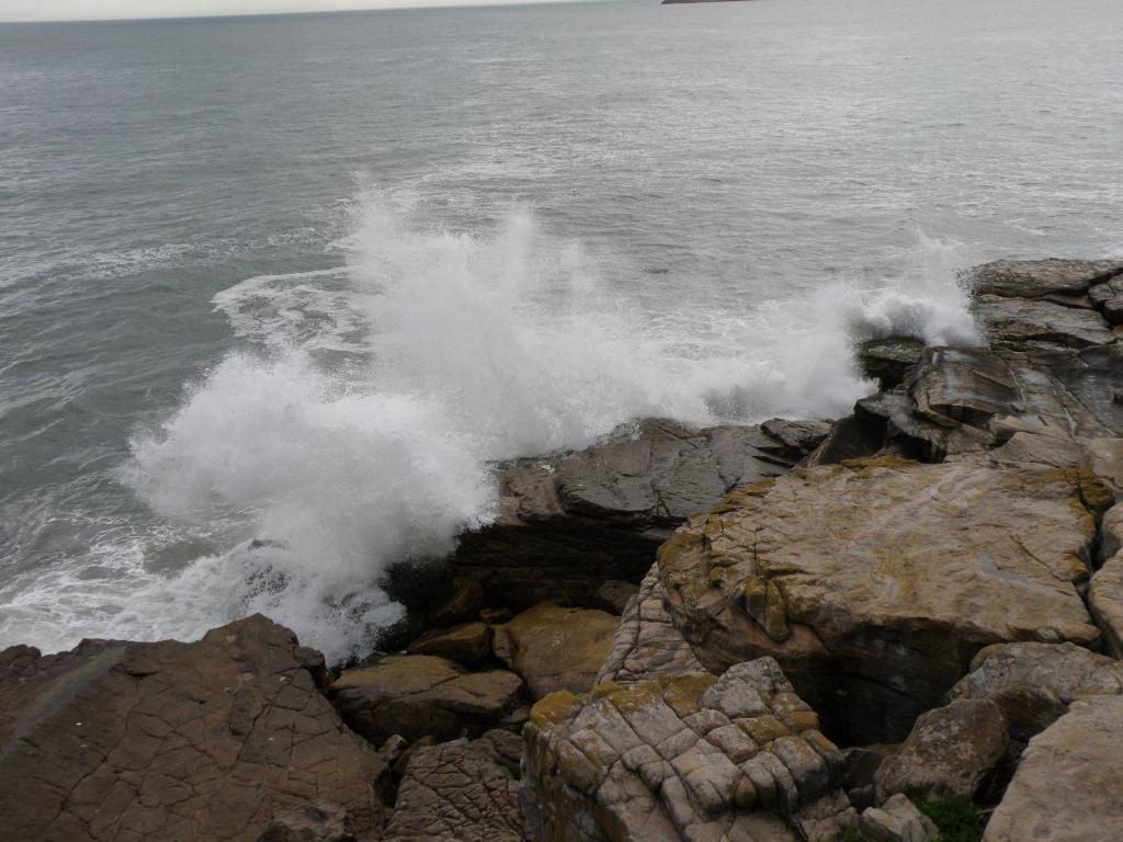
<instances>
[{"instance_id":1,"label":"big dark brown cracked boulder filling the bottom left corner","mask_svg":"<svg viewBox=\"0 0 1123 842\"><path fill-rule=\"evenodd\" d=\"M261 615L195 643L0 655L0 835L10 842L258 839L317 798L365 833L384 771Z\"/></svg>"}]
</instances>

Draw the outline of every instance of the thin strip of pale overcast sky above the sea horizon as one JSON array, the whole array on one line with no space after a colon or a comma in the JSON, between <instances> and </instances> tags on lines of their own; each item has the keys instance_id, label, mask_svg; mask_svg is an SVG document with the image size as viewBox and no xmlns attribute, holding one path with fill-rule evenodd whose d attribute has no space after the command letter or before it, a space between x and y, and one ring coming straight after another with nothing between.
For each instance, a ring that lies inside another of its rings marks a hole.
<instances>
[{"instance_id":1,"label":"thin strip of pale overcast sky above the sea horizon","mask_svg":"<svg viewBox=\"0 0 1123 842\"><path fill-rule=\"evenodd\" d=\"M503 0L0 0L0 20L101 20L343 11L395 6L482 6ZM526 2L526 0L508 0Z\"/></svg>"}]
</instances>

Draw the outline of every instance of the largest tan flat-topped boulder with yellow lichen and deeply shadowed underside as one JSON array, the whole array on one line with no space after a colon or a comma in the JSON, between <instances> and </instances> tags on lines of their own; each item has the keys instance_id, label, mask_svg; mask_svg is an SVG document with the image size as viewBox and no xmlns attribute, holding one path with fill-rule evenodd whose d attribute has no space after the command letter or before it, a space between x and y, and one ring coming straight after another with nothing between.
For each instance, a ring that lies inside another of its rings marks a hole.
<instances>
[{"instance_id":1,"label":"largest tan flat-topped boulder with yellow lichen and deeply shadowed underside","mask_svg":"<svg viewBox=\"0 0 1123 842\"><path fill-rule=\"evenodd\" d=\"M870 459L800 468L692 518L659 552L711 670L769 655L853 743L903 738L975 653L1095 643L1088 472Z\"/></svg>"}]
</instances>

